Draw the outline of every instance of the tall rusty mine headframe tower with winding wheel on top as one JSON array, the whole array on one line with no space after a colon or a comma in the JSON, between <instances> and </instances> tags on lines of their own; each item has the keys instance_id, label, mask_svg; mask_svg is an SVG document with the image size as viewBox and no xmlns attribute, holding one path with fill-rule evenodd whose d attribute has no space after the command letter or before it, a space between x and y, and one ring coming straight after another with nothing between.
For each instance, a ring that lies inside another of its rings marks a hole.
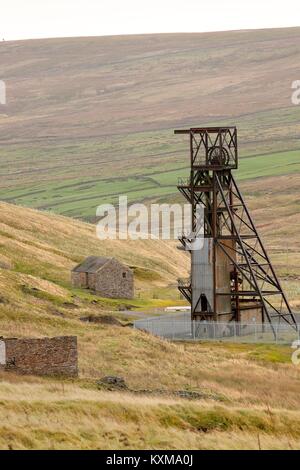
<instances>
[{"instance_id":1,"label":"tall rusty mine headframe tower with winding wheel on top","mask_svg":"<svg viewBox=\"0 0 300 470\"><path fill-rule=\"evenodd\" d=\"M192 210L190 233L180 237L181 249L191 254L191 276L179 279L178 287L191 303L192 320L285 321L297 328L232 175L238 167L236 127L175 134L189 138L190 175L180 178L178 189Z\"/></svg>"}]
</instances>

